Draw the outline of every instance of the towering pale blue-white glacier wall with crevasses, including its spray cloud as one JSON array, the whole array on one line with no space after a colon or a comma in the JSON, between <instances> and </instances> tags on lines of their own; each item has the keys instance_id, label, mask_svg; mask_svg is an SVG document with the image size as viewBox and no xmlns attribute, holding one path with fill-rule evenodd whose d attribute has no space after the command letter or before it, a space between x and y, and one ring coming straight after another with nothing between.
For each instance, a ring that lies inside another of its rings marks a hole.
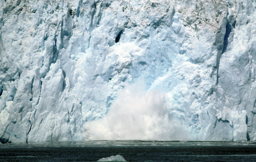
<instances>
[{"instance_id":1,"label":"towering pale blue-white glacier wall with crevasses, including its spray cloud","mask_svg":"<svg viewBox=\"0 0 256 162\"><path fill-rule=\"evenodd\" d=\"M256 140L254 0L0 6L2 143Z\"/></svg>"}]
</instances>

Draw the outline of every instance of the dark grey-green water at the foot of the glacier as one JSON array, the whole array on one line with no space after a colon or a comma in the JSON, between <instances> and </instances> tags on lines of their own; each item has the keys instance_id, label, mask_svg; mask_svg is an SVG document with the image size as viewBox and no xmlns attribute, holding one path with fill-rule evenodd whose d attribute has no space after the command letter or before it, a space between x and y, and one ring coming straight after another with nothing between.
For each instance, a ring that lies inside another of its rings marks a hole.
<instances>
[{"instance_id":1,"label":"dark grey-green water at the foot of the glacier","mask_svg":"<svg viewBox=\"0 0 256 162\"><path fill-rule=\"evenodd\" d=\"M0 144L1 162L95 162L117 154L134 162L256 161L256 142L89 141Z\"/></svg>"}]
</instances>

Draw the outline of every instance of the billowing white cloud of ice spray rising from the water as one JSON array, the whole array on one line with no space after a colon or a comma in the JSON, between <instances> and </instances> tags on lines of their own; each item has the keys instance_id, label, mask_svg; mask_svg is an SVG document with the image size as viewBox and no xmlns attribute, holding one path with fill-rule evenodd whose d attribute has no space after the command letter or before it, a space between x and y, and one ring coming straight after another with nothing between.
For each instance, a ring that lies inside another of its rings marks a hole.
<instances>
[{"instance_id":1,"label":"billowing white cloud of ice spray rising from the water","mask_svg":"<svg viewBox=\"0 0 256 162\"><path fill-rule=\"evenodd\" d=\"M186 140L185 129L170 118L164 93L142 84L126 86L105 117L86 122L85 140Z\"/></svg>"}]
</instances>

